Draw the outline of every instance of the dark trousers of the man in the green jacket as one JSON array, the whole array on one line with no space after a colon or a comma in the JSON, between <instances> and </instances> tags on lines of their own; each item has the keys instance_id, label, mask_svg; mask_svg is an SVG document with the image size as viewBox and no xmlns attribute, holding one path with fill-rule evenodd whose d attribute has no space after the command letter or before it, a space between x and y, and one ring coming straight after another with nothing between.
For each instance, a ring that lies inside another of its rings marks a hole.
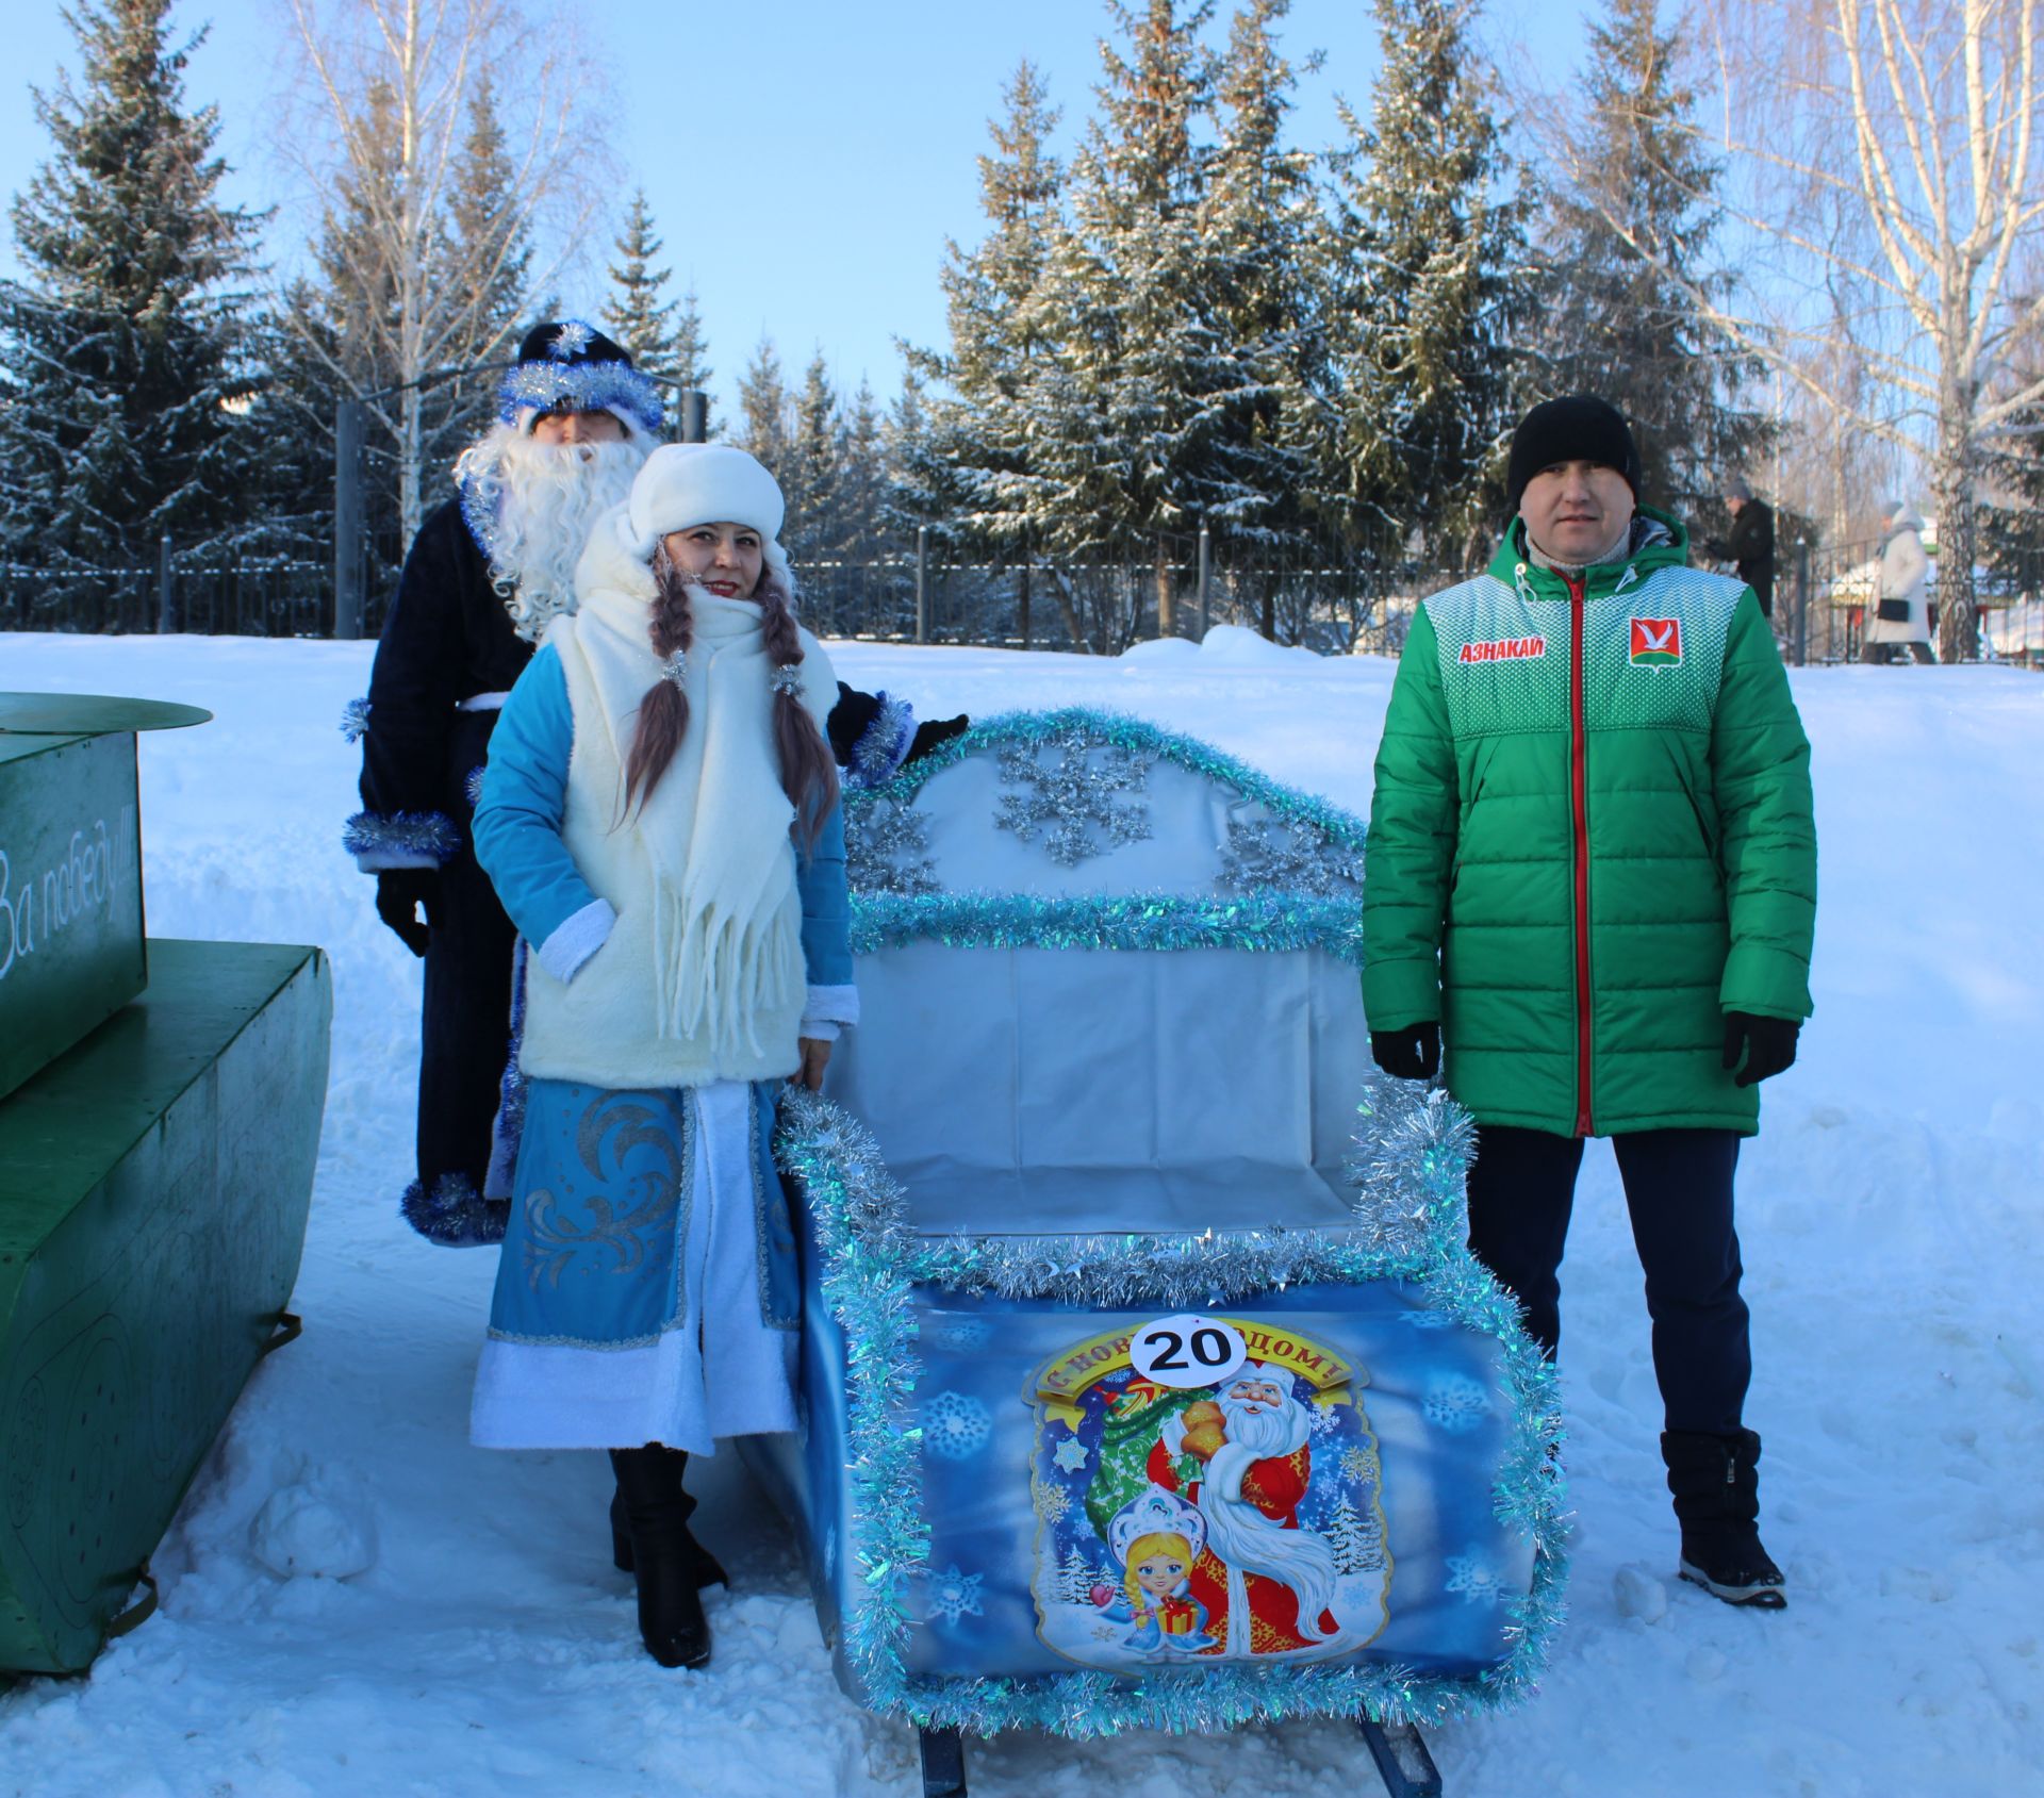
<instances>
[{"instance_id":1,"label":"dark trousers of the man in the green jacket","mask_svg":"<svg viewBox=\"0 0 2044 1798\"><path fill-rule=\"evenodd\" d=\"M1637 1130L1611 1146L1647 1275L1668 1428L1729 1436L1754 1373L1731 1228L1737 1132ZM1470 1169L1470 1252L1519 1295L1549 1355L1562 1336L1558 1273L1580 1167L1580 1136L1486 1124Z\"/></svg>"}]
</instances>

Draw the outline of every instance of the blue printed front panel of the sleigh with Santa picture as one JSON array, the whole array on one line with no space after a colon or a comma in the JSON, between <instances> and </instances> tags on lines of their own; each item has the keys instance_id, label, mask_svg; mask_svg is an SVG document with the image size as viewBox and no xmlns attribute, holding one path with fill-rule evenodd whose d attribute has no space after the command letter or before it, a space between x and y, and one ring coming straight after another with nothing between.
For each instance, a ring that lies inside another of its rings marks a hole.
<instances>
[{"instance_id":1,"label":"blue printed front panel of the sleigh with Santa picture","mask_svg":"<svg viewBox=\"0 0 2044 1798\"><path fill-rule=\"evenodd\" d=\"M924 1287L912 1314L912 1673L1470 1677L1511 1657L1533 1545L1496 1508L1502 1344L1423 1287L1292 1287L1206 1320ZM1214 1377L1147 1371L1159 1322L1241 1353Z\"/></svg>"}]
</instances>

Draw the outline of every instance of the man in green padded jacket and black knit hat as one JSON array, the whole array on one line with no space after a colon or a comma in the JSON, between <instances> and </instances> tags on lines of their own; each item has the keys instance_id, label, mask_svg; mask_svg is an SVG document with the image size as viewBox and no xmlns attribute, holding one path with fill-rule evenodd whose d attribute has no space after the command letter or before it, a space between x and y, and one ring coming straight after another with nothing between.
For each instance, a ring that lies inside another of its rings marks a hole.
<instances>
[{"instance_id":1,"label":"man in green padded jacket and black knit hat","mask_svg":"<svg viewBox=\"0 0 2044 1798\"><path fill-rule=\"evenodd\" d=\"M1490 570L1412 619L1378 750L1363 1003L1380 1067L1474 1114L1470 1248L1553 1353L1586 1136L1654 1318L1682 1577L1780 1608L1731 1181L1809 1015L1809 742L1750 586L1637 505L1625 419L1519 423Z\"/></svg>"}]
</instances>

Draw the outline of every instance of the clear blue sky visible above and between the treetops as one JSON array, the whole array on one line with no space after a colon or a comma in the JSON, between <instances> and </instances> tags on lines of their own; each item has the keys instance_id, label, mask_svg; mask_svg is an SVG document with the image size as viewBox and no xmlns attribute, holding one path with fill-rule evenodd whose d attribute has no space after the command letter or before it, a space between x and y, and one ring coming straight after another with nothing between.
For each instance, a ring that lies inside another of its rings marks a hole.
<instances>
[{"instance_id":1,"label":"clear blue sky visible above and between the treetops","mask_svg":"<svg viewBox=\"0 0 2044 1798\"><path fill-rule=\"evenodd\" d=\"M1226 0L1218 10L1224 29ZM57 0L8 12L0 190L16 192L49 149L27 90L76 69L76 45ZM936 274L946 235L977 237L975 157L1002 84L1020 57L1036 61L1069 139L1108 25L1098 0L587 0L580 12L611 69L607 131L625 190L646 186L677 284L697 286L726 409L762 333L791 374L822 347L846 386L865 374L883 398L895 392L893 337L944 339ZM1582 0L1492 0L1488 14L1494 39L1531 43L1547 72L1576 59ZM231 196L288 200L276 151L296 47L288 0L178 0L172 20L213 27L188 94L221 106ZM1327 53L1302 82L1296 141L1333 143L1337 94L1367 110L1374 8L1294 0L1284 41L1296 61ZM280 219L270 253L288 257L294 235ZM601 300L607 237L564 278L568 311ZM16 270L8 231L0 272Z\"/></svg>"}]
</instances>

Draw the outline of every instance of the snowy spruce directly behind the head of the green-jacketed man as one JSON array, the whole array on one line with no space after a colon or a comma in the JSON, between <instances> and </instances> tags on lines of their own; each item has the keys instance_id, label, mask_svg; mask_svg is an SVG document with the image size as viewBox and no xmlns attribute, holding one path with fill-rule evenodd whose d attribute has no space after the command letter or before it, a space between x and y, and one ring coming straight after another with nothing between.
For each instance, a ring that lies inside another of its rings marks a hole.
<instances>
[{"instance_id":1,"label":"snowy spruce directly behind the head of the green-jacketed man","mask_svg":"<svg viewBox=\"0 0 2044 1798\"><path fill-rule=\"evenodd\" d=\"M1541 351L1527 398L1596 392L1631 421L1643 499L1723 525L1723 478L1772 441L1741 405L1762 374L1711 325L1697 294L1723 304L1713 272L1721 168L1703 151L1694 92L1660 0L1605 0L1576 100L1555 114L1555 172L1541 206Z\"/></svg>"}]
</instances>

